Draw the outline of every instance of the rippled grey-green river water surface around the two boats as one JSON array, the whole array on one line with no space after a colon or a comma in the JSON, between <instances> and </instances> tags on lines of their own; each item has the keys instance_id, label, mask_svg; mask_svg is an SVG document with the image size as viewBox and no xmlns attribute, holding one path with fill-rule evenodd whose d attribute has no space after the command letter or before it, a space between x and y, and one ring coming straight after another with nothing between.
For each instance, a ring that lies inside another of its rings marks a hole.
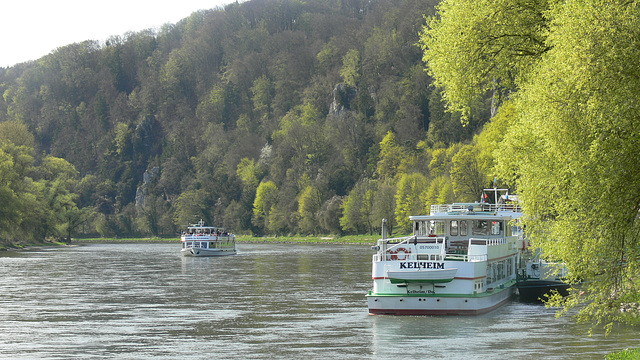
<instances>
[{"instance_id":1,"label":"rippled grey-green river water surface around the two boats","mask_svg":"<svg viewBox=\"0 0 640 360\"><path fill-rule=\"evenodd\" d=\"M0 255L0 358L602 359L640 346L539 305L477 317L370 316L368 246L239 244L184 258L173 244Z\"/></svg>"}]
</instances>

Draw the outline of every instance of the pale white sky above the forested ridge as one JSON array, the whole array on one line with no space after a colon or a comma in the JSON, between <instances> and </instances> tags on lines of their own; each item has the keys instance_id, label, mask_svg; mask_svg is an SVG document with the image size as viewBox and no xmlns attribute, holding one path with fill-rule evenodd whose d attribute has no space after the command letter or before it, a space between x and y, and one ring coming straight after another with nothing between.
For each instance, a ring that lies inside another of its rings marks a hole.
<instances>
[{"instance_id":1,"label":"pale white sky above the forested ridge","mask_svg":"<svg viewBox=\"0 0 640 360\"><path fill-rule=\"evenodd\" d=\"M105 41L176 22L235 0L4 0L0 67L37 60L85 40Z\"/></svg>"}]
</instances>

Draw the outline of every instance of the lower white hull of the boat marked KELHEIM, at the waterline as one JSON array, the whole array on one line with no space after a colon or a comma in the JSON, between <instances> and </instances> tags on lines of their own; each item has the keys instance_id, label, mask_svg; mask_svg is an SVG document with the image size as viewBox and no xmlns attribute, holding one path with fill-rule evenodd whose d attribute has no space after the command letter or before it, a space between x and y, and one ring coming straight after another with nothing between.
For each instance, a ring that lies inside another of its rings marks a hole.
<instances>
[{"instance_id":1,"label":"lower white hull of the boat marked KELHEIM, at the waterline","mask_svg":"<svg viewBox=\"0 0 640 360\"><path fill-rule=\"evenodd\" d=\"M384 295L369 293L371 315L480 315L509 301L514 287L496 289L481 295Z\"/></svg>"}]
</instances>

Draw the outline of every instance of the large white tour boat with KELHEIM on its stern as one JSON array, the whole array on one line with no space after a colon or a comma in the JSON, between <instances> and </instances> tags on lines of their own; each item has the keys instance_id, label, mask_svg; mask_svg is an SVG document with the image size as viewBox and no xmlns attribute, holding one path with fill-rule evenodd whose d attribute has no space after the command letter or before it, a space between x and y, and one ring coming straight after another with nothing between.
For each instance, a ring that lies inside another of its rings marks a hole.
<instances>
[{"instance_id":1,"label":"large white tour boat with KELHEIM on its stern","mask_svg":"<svg viewBox=\"0 0 640 360\"><path fill-rule=\"evenodd\" d=\"M489 203L434 205L410 216L413 235L383 236L373 249L370 314L482 314L514 293L523 246L508 195ZM486 191L486 190L485 190ZM483 199L485 196L483 196Z\"/></svg>"}]
</instances>

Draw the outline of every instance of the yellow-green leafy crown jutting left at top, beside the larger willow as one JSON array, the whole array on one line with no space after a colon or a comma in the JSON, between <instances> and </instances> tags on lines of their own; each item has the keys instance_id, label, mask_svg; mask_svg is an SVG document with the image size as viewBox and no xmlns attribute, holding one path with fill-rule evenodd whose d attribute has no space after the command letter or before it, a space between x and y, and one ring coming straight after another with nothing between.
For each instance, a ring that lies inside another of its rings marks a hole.
<instances>
[{"instance_id":1,"label":"yellow-green leafy crown jutting left at top, beside the larger willow","mask_svg":"<svg viewBox=\"0 0 640 360\"><path fill-rule=\"evenodd\" d=\"M487 92L501 98L526 79L551 49L553 0L446 0L422 29L423 60L448 109L468 117Z\"/></svg>"}]
</instances>

